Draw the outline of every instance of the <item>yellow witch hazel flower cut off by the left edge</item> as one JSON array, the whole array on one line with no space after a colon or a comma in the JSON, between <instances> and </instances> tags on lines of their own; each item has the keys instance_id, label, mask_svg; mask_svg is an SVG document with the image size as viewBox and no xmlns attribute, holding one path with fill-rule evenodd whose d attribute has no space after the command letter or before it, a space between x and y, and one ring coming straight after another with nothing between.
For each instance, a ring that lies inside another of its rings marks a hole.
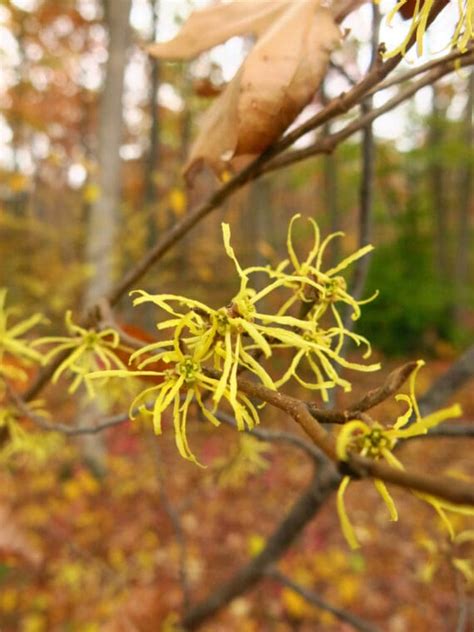
<instances>
[{"instance_id":1,"label":"yellow witch hazel flower cut off by the left edge","mask_svg":"<svg viewBox=\"0 0 474 632\"><path fill-rule=\"evenodd\" d=\"M25 380L27 374L21 367L10 362L10 359L21 360L22 362L41 362L41 354L32 349L31 343L24 340L22 336L30 331L35 325L45 322L41 314L33 314L25 320L21 320L15 325L9 326L9 319L17 310L5 306L7 290L0 289L0 376L14 380Z\"/></svg>"}]
</instances>

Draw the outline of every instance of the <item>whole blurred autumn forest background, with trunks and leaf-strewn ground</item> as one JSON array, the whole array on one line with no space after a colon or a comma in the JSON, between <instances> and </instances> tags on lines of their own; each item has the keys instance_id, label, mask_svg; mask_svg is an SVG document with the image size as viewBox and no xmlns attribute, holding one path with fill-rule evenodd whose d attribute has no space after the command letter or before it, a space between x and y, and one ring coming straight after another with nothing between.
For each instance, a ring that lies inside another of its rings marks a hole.
<instances>
[{"instance_id":1,"label":"whole blurred autumn forest background, with trunks and leaf-strewn ground","mask_svg":"<svg viewBox=\"0 0 474 632\"><path fill-rule=\"evenodd\" d=\"M189 186L183 167L203 113L252 38L233 37L189 63L159 59L148 49L172 38L191 11L207 4L0 2L0 288L7 288L7 304L19 306L21 318L44 314L43 335L64 335L66 310L79 321L216 190L210 169ZM343 27L350 33L295 125L357 84L380 41L390 48L401 39L396 34L406 25L400 16L391 29L384 17L394 4L382 3L381 10L365 4L347 17ZM424 56L411 51L396 71L400 76L433 59L430 50L448 54L441 49L452 26L449 10L427 35ZM369 95L357 113L329 120L294 149L304 151L319 133L338 133L418 80L414 74L402 88L394 84L382 97ZM462 430L465 439L439 432L407 442L401 452L404 462L429 473L472 481L473 98L469 65L428 81L335 151L238 188L133 289L225 304L237 288L222 221L232 228L242 266L283 258L295 213L314 218L323 235L344 231L345 239L327 251L331 265L370 241L374 252L348 278L359 298L379 290L354 332L371 341L382 377L351 377L352 393L335 391L330 403L347 406L395 367L424 358L417 391L427 395L421 401L428 406L428 396L442 399L444 383L434 395L430 387L461 358L461 388L448 389L450 399L442 404L462 405L458 434ZM308 246L304 226L297 225L295 239ZM262 287L263 276L257 280ZM130 336L153 340L155 315L133 308L126 296L114 319ZM347 352L350 359L357 355L352 346ZM36 377L29 367L28 384ZM28 384L14 386L22 392ZM196 419L188 433L208 466L201 470L181 459L172 432L157 438L142 418L122 423L127 415L114 423L110 415L127 410L130 397L128 386L110 384L92 402L83 386L71 394L63 378L48 384L35 398L38 410L47 400L51 413L41 438L32 440L41 449L26 446L12 456L0 427L2 632L178 630L183 608L255 557L312 480L311 459L291 442L271 434L264 440L268 430L296 434L280 411L264 409L262 441L241 437L226 423L216 430ZM303 389L294 392L302 396ZM381 405L381 416L399 412L392 399ZM76 432L102 418L112 420L104 432ZM64 432L47 432L52 424ZM25 427L38 430L34 419ZM351 486L348 510L363 543L356 551L347 547L331 498L263 581L202 629L471 630L472 543L455 549L432 507L398 489L393 496L399 522L387 522L373 486ZM456 515L455 521L473 532L472 517Z\"/></svg>"}]
</instances>

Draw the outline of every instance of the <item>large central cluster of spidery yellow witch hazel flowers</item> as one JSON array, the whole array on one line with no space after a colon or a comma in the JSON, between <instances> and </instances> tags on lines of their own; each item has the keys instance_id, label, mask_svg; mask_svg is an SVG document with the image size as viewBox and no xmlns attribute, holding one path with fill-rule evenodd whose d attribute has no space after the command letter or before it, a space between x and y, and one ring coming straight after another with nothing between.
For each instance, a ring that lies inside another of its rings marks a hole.
<instances>
[{"instance_id":1,"label":"large central cluster of spidery yellow witch hazel flowers","mask_svg":"<svg viewBox=\"0 0 474 632\"><path fill-rule=\"evenodd\" d=\"M298 217L298 216L297 216ZM292 376L301 384L319 389L327 399L327 390L342 386L346 390L350 383L337 374L334 364L373 371L378 364L359 365L348 362L340 356L345 336L350 336L357 345L365 345L370 354L370 345L365 338L344 329L342 321L322 329L317 318L337 301L352 306L357 315L359 303L343 289L339 272L372 248L366 247L346 258L338 266L325 273L321 272L321 261L328 238L319 246L319 230L315 223L315 244L307 259L300 264L291 243L291 231L295 218L290 224L289 251L295 272L284 270L289 262L283 262L275 270L250 267L242 269L231 246L230 228L222 224L224 247L234 262L240 280L237 294L225 307L214 309L198 300L175 294L150 294L143 290L132 292L134 306L152 303L162 310L166 317L157 323L157 329L173 333L165 340L149 344L130 356L130 362L138 364L138 369L127 371L123 368L106 367L105 371L93 371L87 378L136 376L154 381L155 384L143 390L132 403L132 412L150 409L155 431L161 433L162 415L168 407L173 409L176 443L181 455L189 460L196 459L186 438L186 418L191 402L195 400L202 414L217 425L215 409L221 401L227 402L234 411L239 430L251 428L258 423L258 414L252 402L238 389L238 375L242 370L252 373L263 385L272 390L288 381ZM297 269L296 269L297 268ZM251 275L264 270L269 276L268 285L261 290L251 287ZM341 277L342 278L342 277ZM303 317L289 314L291 305L298 298L306 297L302 288L310 285L318 291L314 306L323 305L319 312L312 310ZM345 286L344 286L345 287ZM275 313L264 313L261 301L270 294L283 294L286 300L283 308ZM291 294L290 300L287 299ZM285 296L286 294L286 296ZM316 314L316 315L315 315ZM261 360L273 355L279 349L289 349L294 359L282 379L275 382ZM263 356L263 358L262 358ZM316 376L314 384L306 382L298 373L300 364L307 362ZM74 361L75 362L75 361ZM213 408L204 405L204 394L212 395ZM184 398L184 399L183 399Z\"/></svg>"}]
</instances>

